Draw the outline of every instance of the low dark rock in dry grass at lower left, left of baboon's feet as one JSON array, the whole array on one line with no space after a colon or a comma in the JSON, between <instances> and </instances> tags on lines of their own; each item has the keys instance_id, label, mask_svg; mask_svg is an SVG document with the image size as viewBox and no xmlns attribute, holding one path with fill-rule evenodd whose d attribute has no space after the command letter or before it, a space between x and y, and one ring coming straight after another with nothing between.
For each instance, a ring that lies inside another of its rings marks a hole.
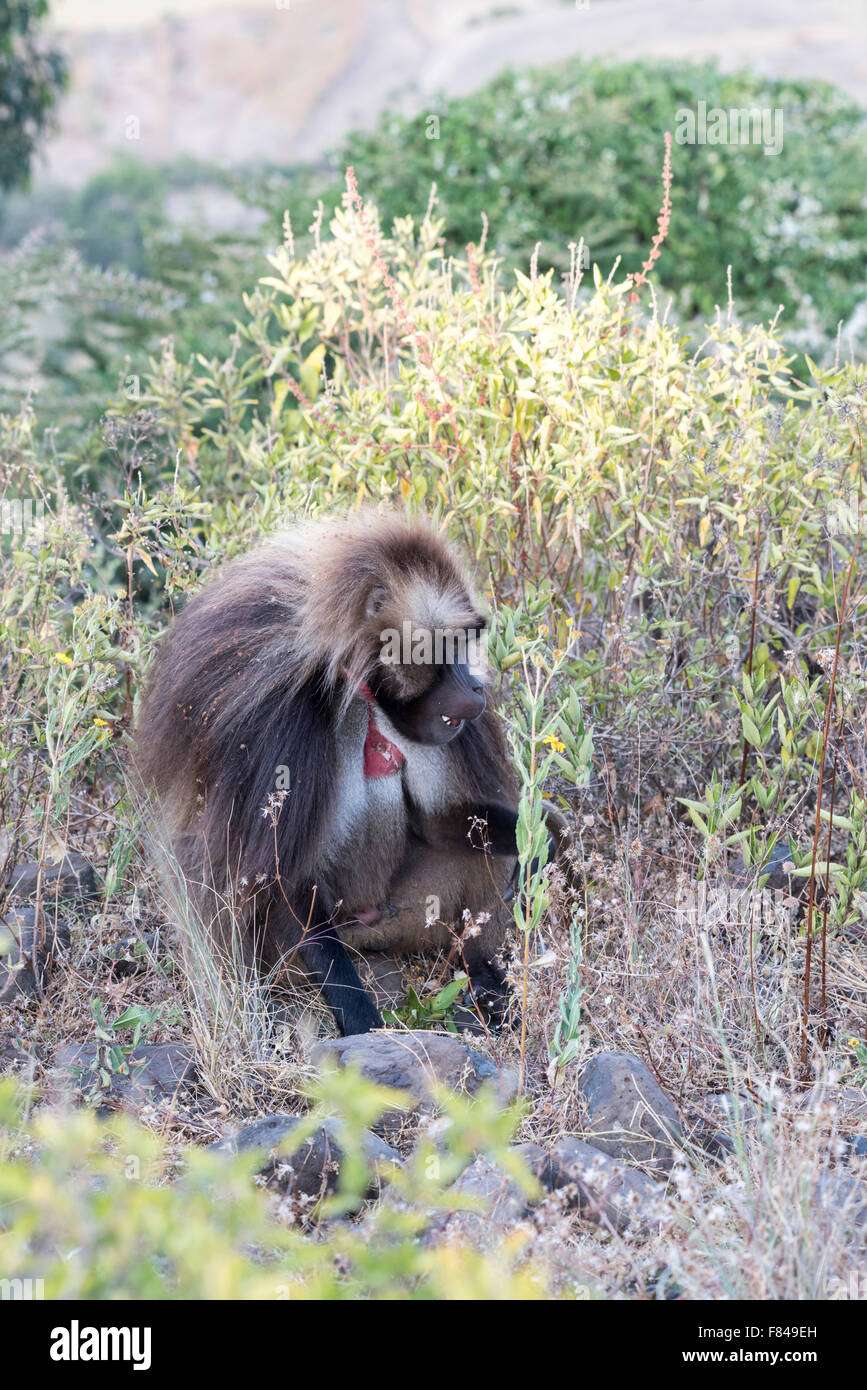
<instances>
[{"instance_id":1,"label":"low dark rock in dry grass at lower left, left of baboon's feet","mask_svg":"<svg viewBox=\"0 0 867 1390\"><path fill-rule=\"evenodd\" d=\"M110 1084L101 1084L104 1052L93 1042L69 1042L54 1054L53 1081L56 1090L99 1091L124 1105L153 1105L174 1097L196 1079L195 1052L183 1042L142 1042L126 1056L128 1072L110 1073Z\"/></svg>"}]
</instances>

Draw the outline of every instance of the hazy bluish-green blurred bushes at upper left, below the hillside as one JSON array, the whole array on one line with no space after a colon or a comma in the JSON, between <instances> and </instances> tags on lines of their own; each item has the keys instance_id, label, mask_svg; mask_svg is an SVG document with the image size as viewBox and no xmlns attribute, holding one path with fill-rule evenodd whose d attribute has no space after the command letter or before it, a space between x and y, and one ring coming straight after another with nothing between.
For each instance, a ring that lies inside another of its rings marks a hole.
<instances>
[{"instance_id":1,"label":"hazy bluish-green blurred bushes at upper left, below the hillside","mask_svg":"<svg viewBox=\"0 0 867 1390\"><path fill-rule=\"evenodd\" d=\"M171 200L222 192L226 179L178 161L115 160L76 193L43 186L0 204L0 409L39 393L64 438L89 430L115 393L136 398L149 354L168 336L181 356L224 348L263 246L251 225L213 229L170 215ZM226 190L228 197L233 197ZM238 203L246 222L257 207Z\"/></svg>"}]
</instances>

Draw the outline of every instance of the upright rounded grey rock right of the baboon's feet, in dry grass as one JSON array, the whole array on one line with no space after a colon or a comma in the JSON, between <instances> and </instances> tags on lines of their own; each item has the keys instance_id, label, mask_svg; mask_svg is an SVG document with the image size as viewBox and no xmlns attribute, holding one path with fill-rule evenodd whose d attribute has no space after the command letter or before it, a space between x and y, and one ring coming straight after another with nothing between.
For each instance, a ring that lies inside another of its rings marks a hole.
<instances>
[{"instance_id":1,"label":"upright rounded grey rock right of the baboon's feet, in dry grass","mask_svg":"<svg viewBox=\"0 0 867 1390\"><path fill-rule=\"evenodd\" d=\"M668 1173L682 1144L675 1106L645 1063L629 1052L602 1052L581 1081L588 1125L584 1137L611 1158Z\"/></svg>"}]
</instances>

